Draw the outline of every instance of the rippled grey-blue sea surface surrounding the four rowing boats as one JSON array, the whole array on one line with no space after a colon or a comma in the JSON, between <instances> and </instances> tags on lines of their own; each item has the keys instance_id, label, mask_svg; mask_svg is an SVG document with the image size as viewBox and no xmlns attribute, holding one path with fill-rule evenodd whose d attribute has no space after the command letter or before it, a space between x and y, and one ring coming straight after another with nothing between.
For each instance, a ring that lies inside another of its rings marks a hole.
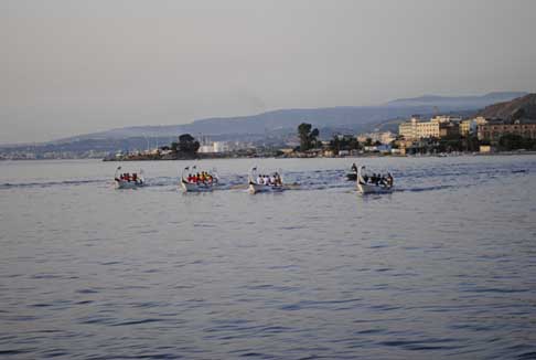
<instances>
[{"instance_id":1,"label":"rippled grey-blue sea surface surrounding the four rowing boats","mask_svg":"<svg viewBox=\"0 0 536 360\"><path fill-rule=\"evenodd\" d=\"M536 157L0 162L0 356L535 359ZM360 162L357 161L357 162ZM290 190L245 192L248 169Z\"/></svg>"}]
</instances>

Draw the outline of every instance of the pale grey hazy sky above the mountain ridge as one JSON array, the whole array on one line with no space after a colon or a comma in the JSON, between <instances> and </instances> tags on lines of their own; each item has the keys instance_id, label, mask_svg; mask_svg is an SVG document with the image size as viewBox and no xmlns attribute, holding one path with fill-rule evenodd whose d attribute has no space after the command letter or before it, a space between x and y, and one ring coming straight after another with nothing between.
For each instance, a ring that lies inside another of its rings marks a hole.
<instances>
[{"instance_id":1,"label":"pale grey hazy sky above the mountain ridge","mask_svg":"<svg viewBox=\"0 0 536 360\"><path fill-rule=\"evenodd\" d=\"M536 87L536 1L0 0L0 142Z\"/></svg>"}]
</instances>

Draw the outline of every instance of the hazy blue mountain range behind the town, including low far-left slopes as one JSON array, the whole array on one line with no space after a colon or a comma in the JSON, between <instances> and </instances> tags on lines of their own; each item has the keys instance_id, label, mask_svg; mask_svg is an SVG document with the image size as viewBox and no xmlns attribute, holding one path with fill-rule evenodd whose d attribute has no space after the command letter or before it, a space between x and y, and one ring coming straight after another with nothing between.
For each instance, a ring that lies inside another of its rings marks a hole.
<instances>
[{"instance_id":1,"label":"hazy blue mountain range behind the town, including low far-left slopes","mask_svg":"<svg viewBox=\"0 0 536 360\"><path fill-rule=\"evenodd\" d=\"M76 151L98 149L116 151L133 148L144 149L148 142L169 142L181 134L210 136L216 140L258 141L271 138L271 142L296 134L301 123L318 127L322 138L335 133L366 133L380 129L396 129L397 124L411 115L430 116L440 114L473 115L495 103L510 102L526 95L521 92L490 93L482 96L435 96L400 98L378 106L340 106L312 109L279 109L251 116L215 117L194 120L184 125L136 126L108 131L79 135L49 141L41 145L0 146L10 151L29 148L35 151Z\"/></svg>"}]
</instances>

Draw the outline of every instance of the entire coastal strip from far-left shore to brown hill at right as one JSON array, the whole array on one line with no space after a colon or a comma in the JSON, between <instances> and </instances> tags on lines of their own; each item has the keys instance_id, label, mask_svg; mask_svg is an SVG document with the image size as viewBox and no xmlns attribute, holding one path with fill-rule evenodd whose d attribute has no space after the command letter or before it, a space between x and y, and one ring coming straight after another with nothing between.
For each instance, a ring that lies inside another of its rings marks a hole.
<instances>
[{"instance_id":1,"label":"entire coastal strip from far-left shore to brown hill at right","mask_svg":"<svg viewBox=\"0 0 536 360\"><path fill-rule=\"evenodd\" d=\"M37 150L32 147L2 148L0 159L71 159L99 158L107 161L176 160L204 158L333 158L358 156L448 156L463 153L502 153L536 150L536 95L494 104L474 116L455 114L414 115L396 123L397 129L367 133L336 133L328 136L304 120L290 134L277 138L250 140L213 140L213 136L181 134L160 139L144 148L138 142L118 141L119 150L99 149L99 142L88 142L84 151L71 151L61 146ZM141 139L143 140L143 139ZM84 141L78 144L84 149ZM133 140L132 140L133 141Z\"/></svg>"}]
</instances>

